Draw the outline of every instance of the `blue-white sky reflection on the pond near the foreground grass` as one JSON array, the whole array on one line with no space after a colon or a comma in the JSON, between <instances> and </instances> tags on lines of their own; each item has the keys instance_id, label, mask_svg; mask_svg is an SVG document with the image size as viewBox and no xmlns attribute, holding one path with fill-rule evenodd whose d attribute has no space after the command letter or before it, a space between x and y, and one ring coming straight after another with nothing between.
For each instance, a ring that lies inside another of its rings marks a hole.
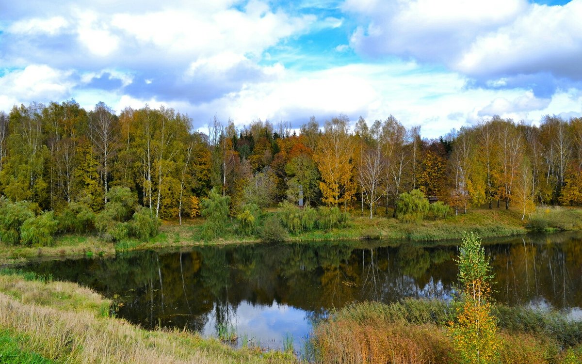
<instances>
[{"instance_id":1,"label":"blue-white sky reflection on the pond near the foreground grass","mask_svg":"<svg viewBox=\"0 0 582 364\"><path fill-rule=\"evenodd\" d=\"M252 344L265 348L282 348L286 335L293 337L293 346L296 351L303 348L304 338L311 330L307 319L309 313L293 306L277 304L269 305L250 304L240 302L237 307L230 306L230 323L236 327L240 340L244 336ZM214 310L213 310L214 312ZM215 317L204 326L202 333L205 336L217 336Z\"/></svg>"}]
</instances>

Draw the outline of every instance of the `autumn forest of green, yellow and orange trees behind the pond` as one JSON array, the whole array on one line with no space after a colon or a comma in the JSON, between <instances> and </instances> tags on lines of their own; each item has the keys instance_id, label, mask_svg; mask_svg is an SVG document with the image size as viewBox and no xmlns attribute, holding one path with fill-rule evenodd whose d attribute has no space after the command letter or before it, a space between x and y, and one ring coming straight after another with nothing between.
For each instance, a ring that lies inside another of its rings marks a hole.
<instances>
[{"instance_id":1,"label":"autumn forest of green, yellow and orange trees behind the pond","mask_svg":"<svg viewBox=\"0 0 582 364\"><path fill-rule=\"evenodd\" d=\"M237 128L217 117L207 133L191 124L169 108L116 115L102 102L85 110L74 100L0 113L0 207L12 219L4 224L34 217L31 227L41 229L69 214L74 221L60 230L94 221L115 240L116 229L132 234L119 225L132 219L133 235L147 237L158 219L198 216L213 187L229 197L230 216L297 204L300 186L306 205L370 218L413 190L456 213L512 205L522 219L536 205L582 204L581 118L548 115L534 126L493 117L432 140L393 116L353 125L343 115L322 124L311 117L299 130L268 120ZM13 233L2 240L25 238Z\"/></svg>"}]
</instances>

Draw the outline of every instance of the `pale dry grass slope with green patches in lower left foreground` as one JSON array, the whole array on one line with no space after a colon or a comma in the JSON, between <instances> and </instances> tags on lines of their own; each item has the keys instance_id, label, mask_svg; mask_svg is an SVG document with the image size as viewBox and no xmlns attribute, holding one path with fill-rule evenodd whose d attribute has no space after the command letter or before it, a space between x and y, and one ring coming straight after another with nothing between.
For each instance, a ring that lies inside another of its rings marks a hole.
<instances>
[{"instance_id":1,"label":"pale dry grass slope with green patches in lower left foreground","mask_svg":"<svg viewBox=\"0 0 582 364\"><path fill-rule=\"evenodd\" d=\"M111 302L88 288L47 279L26 280L13 271L3 273L2 363L296 362L282 352L232 349L184 331L146 331L110 317Z\"/></svg>"}]
</instances>

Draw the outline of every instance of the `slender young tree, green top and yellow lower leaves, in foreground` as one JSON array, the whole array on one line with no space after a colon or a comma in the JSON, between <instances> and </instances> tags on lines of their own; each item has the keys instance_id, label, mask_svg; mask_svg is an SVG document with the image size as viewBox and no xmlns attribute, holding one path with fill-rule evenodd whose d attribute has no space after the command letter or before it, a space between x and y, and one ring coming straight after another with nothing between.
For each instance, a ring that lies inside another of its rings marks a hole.
<instances>
[{"instance_id":1,"label":"slender young tree, green top and yellow lower leaves, in foreground","mask_svg":"<svg viewBox=\"0 0 582 364\"><path fill-rule=\"evenodd\" d=\"M501 340L491 315L491 266L481 247L481 238L464 234L459 259L460 305L449 334L462 363L490 364L497 361Z\"/></svg>"}]
</instances>

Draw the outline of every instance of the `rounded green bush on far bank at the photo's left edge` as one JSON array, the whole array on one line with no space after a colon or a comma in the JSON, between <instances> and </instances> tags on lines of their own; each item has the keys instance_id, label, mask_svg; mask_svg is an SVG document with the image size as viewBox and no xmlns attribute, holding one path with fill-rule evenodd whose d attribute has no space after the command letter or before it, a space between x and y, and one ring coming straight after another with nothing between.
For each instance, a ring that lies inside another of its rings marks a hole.
<instances>
[{"instance_id":1,"label":"rounded green bush on far bank at the photo's left edge","mask_svg":"<svg viewBox=\"0 0 582 364\"><path fill-rule=\"evenodd\" d=\"M34 217L30 202L0 200L0 241L8 245L20 244L20 227Z\"/></svg>"}]
</instances>

